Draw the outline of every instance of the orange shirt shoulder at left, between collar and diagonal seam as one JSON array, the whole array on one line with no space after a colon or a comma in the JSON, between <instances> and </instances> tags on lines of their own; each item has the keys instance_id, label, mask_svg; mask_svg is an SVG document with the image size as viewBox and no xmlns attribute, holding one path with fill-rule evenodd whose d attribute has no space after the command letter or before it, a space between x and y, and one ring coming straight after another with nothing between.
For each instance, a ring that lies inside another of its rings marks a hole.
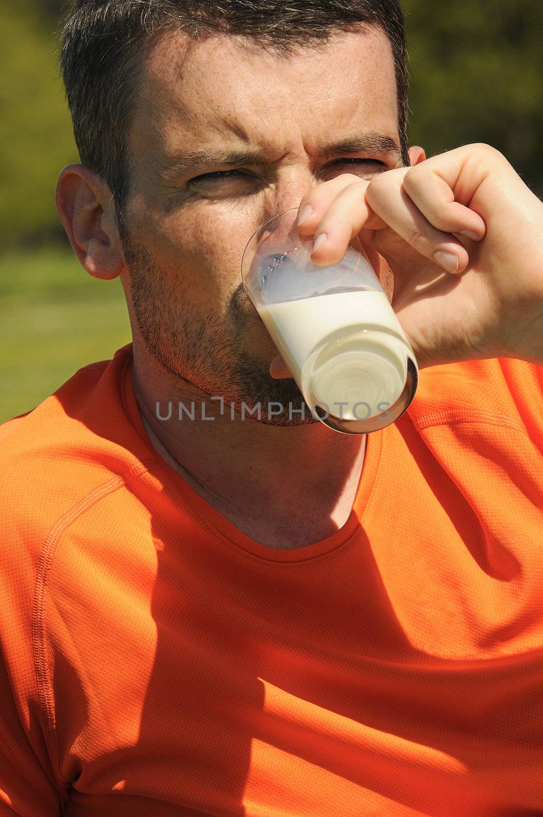
<instances>
[{"instance_id":1,"label":"orange shirt shoulder at left, between collar and diagonal seam","mask_svg":"<svg viewBox=\"0 0 543 817\"><path fill-rule=\"evenodd\" d=\"M32 411L0 426L3 567L23 551L35 567L58 520L145 456L123 406L129 357L131 345L80 368Z\"/></svg>"}]
</instances>

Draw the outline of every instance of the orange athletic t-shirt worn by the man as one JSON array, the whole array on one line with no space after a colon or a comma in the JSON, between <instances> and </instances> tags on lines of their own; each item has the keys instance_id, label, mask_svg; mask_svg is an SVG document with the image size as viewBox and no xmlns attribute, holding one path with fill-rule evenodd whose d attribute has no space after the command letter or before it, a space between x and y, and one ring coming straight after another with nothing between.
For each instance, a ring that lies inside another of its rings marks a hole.
<instances>
[{"instance_id":1,"label":"orange athletic t-shirt worn by the man","mask_svg":"<svg viewBox=\"0 0 543 817\"><path fill-rule=\"evenodd\" d=\"M543 367L424 369L281 551L159 458L131 364L0 427L0 815L543 814Z\"/></svg>"}]
</instances>

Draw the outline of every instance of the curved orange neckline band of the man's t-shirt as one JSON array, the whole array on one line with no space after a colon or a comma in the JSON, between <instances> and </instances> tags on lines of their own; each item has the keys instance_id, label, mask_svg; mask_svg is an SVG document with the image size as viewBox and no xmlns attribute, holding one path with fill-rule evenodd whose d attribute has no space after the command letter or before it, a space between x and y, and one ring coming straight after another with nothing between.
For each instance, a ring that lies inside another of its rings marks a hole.
<instances>
[{"instance_id":1,"label":"curved orange neckline band of the man's t-shirt","mask_svg":"<svg viewBox=\"0 0 543 817\"><path fill-rule=\"evenodd\" d=\"M325 556L331 551L345 545L352 535L356 533L370 500L370 495L376 484L377 471L379 470L383 449L383 435L387 431L386 427L382 431L373 431L366 436L366 453L362 464L357 493L355 494L351 513L343 527L334 531L330 536L318 542L312 542L310 545L296 547L292 550L277 550L274 547L267 547L260 542L255 542L254 539L249 538L249 536L245 535L240 529L236 528L236 525L230 520L227 520L226 516L222 516L212 505L209 505L209 502L201 498L176 471L173 471L173 469L168 466L168 463L159 457L141 421L136 395L133 390L132 344L124 346L123 350L126 352L126 359L121 374L124 412L146 445L146 449L149 450L150 458L155 462L155 466L162 467L166 479L168 480L168 485L171 486L173 493L179 494L182 500L190 505L196 518L200 520L200 524L205 525L208 529L211 529L212 532L218 534L224 542L240 548L240 550L256 557L258 560L285 564L312 561L321 556ZM149 460L148 457L146 457L146 459Z\"/></svg>"}]
</instances>

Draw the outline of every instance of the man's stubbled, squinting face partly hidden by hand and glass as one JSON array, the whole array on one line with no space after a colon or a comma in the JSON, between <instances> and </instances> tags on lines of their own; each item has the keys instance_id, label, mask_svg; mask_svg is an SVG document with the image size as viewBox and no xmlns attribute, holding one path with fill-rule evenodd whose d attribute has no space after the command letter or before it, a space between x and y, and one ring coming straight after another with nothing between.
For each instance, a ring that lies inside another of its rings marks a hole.
<instances>
[{"instance_id":1,"label":"man's stubbled, squinting face partly hidden by hand and glass","mask_svg":"<svg viewBox=\"0 0 543 817\"><path fill-rule=\"evenodd\" d=\"M263 422L276 401L285 412L272 422L303 422L286 416L289 402L302 404L294 380L269 374L276 347L242 287L241 256L263 221L322 181L402 166L399 148L325 154L368 134L399 144L393 52L380 29L289 58L227 36L155 42L129 134L122 280L132 329L173 383L261 402ZM197 151L262 158L191 167ZM304 422L317 421L306 411Z\"/></svg>"}]
</instances>

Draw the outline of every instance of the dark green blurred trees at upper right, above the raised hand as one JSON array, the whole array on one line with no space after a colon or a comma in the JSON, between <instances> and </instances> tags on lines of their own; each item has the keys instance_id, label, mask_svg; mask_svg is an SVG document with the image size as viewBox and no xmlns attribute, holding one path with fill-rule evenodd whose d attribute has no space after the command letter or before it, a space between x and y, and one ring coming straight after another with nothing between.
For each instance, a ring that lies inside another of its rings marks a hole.
<instances>
[{"instance_id":1,"label":"dark green blurred trees at upper right, above the raised hand","mask_svg":"<svg viewBox=\"0 0 543 817\"><path fill-rule=\"evenodd\" d=\"M487 142L543 194L543 2L403 0L411 144Z\"/></svg>"}]
</instances>

